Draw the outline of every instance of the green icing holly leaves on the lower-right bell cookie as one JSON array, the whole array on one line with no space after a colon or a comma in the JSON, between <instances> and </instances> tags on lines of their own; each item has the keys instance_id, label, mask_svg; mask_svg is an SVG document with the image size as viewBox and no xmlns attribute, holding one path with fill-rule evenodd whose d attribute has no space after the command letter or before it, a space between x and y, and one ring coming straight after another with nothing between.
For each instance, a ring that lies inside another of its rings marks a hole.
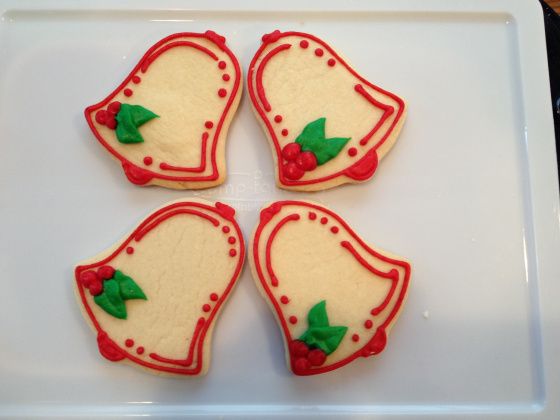
<instances>
[{"instance_id":1,"label":"green icing holly leaves on the lower-right bell cookie","mask_svg":"<svg viewBox=\"0 0 560 420\"><path fill-rule=\"evenodd\" d=\"M318 348L326 355L335 351L344 338L348 327L333 327L329 325L326 301L322 300L307 314L309 327L299 338L311 348Z\"/></svg>"}]
</instances>

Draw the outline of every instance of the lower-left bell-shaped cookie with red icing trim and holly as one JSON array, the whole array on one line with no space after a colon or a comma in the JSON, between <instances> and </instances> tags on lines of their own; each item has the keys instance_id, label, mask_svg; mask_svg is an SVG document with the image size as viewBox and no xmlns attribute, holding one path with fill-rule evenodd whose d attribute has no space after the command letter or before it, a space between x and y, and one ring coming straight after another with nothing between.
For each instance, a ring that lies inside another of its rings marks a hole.
<instances>
[{"instance_id":1,"label":"lower-left bell-shaped cookie with red icing trim and holly","mask_svg":"<svg viewBox=\"0 0 560 420\"><path fill-rule=\"evenodd\" d=\"M204 375L212 330L245 259L235 211L178 200L75 269L84 317L108 360L169 375Z\"/></svg>"}]
</instances>

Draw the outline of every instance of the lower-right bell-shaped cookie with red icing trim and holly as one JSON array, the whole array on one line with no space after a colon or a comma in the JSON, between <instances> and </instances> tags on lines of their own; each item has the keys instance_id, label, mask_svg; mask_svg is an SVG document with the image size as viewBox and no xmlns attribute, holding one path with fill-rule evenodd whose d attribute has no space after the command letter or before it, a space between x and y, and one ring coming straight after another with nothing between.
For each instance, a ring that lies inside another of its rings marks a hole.
<instances>
[{"instance_id":1,"label":"lower-right bell-shaped cookie with red icing trim and holly","mask_svg":"<svg viewBox=\"0 0 560 420\"><path fill-rule=\"evenodd\" d=\"M308 201L265 207L249 255L293 373L325 373L383 351L408 291L406 260L369 246Z\"/></svg>"}]
</instances>

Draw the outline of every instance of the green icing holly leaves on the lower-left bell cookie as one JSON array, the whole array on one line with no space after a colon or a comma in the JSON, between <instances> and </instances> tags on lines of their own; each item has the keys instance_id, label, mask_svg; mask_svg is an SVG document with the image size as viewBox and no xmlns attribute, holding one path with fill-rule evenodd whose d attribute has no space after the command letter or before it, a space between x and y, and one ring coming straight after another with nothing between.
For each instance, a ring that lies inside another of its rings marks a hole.
<instances>
[{"instance_id":1,"label":"green icing holly leaves on the lower-left bell cookie","mask_svg":"<svg viewBox=\"0 0 560 420\"><path fill-rule=\"evenodd\" d=\"M125 300L148 298L131 277L116 270L113 278L103 282L103 293L93 298L95 303L109 315L126 319Z\"/></svg>"}]
</instances>

